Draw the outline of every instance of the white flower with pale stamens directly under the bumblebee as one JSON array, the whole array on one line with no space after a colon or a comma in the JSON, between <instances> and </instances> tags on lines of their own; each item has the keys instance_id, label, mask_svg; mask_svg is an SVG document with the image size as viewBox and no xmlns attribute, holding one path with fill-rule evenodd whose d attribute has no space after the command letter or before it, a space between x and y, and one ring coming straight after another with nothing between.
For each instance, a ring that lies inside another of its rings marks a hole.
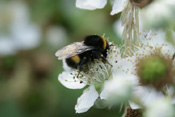
<instances>
[{"instance_id":1,"label":"white flower with pale stamens directly under the bumblebee","mask_svg":"<svg viewBox=\"0 0 175 117\"><path fill-rule=\"evenodd\" d=\"M58 80L67 88L81 89L86 85L90 85L83 94L78 98L77 105L75 106L76 113L86 112L91 108L98 97L106 99L104 94L107 94L107 90L103 90L103 84L109 80L114 79L115 74L125 74L128 71L128 67L124 66L131 64L128 59L121 59L120 49L116 46L112 46L107 60L111 65L103 63L99 60L95 60L87 65L87 71L81 71L77 78L78 71L72 70L66 66L63 61L65 71L58 76ZM125 72L123 72L125 71ZM120 84L118 84L120 87ZM103 93L102 93L103 92ZM121 92L121 91L120 91Z\"/></svg>"}]
</instances>

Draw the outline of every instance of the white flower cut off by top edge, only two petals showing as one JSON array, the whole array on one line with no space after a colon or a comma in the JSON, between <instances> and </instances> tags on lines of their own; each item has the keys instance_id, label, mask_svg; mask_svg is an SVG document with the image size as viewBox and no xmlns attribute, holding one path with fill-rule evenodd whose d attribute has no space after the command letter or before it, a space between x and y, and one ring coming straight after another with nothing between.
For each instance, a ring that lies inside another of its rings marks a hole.
<instances>
[{"instance_id":1,"label":"white flower cut off by top edge, only two petals showing","mask_svg":"<svg viewBox=\"0 0 175 117\"><path fill-rule=\"evenodd\" d=\"M126 6L128 0L115 0L113 3L111 15L121 12ZM95 10L103 8L107 0L76 0L76 7L81 9Z\"/></svg>"}]
</instances>

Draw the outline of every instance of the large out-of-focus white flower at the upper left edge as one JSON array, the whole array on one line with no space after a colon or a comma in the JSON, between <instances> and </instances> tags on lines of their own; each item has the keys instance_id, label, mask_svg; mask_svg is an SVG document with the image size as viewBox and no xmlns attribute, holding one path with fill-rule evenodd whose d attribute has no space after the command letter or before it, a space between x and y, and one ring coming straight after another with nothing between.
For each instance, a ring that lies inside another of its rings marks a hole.
<instances>
[{"instance_id":1,"label":"large out-of-focus white flower at the upper left edge","mask_svg":"<svg viewBox=\"0 0 175 117\"><path fill-rule=\"evenodd\" d=\"M15 54L40 44L40 29L29 21L29 11L22 2L0 4L0 55Z\"/></svg>"}]
</instances>

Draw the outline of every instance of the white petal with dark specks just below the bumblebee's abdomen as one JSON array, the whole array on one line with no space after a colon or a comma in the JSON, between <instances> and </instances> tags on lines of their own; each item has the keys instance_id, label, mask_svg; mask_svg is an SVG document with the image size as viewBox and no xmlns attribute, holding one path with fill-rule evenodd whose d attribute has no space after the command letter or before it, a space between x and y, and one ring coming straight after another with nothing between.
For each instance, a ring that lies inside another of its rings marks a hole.
<instances>
[{"instance_id":1,"label":"white petal with dark specks just below the bumblebee's abdomen","mask_svg":"<svg viewBox=\"0 0 175 117\"><path fill-rule=\"evenodd\" d=\"M69 89L82 89L86 86L84 83L80 83L80 80L75 75L71 75L70 72L63 72L59 74L58 80L61 82L62 85Z\"/></svg>"}]
</instances>

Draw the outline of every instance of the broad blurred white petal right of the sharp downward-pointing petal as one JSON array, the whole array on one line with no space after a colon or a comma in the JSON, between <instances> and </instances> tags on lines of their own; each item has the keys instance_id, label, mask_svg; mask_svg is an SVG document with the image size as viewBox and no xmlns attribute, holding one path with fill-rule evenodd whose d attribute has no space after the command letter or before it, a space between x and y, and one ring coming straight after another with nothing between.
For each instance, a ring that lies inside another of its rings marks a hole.
<instances>
[{"instance_id":1,"label":"broad blurred white petal right of the sharp downward-pointing petal","mask_svg":"<svg viewBox=\"0 0 175 117\"><path fill-rule=\"evenodd\" d=\"M116 74L113 79L105 82L100 98L106 99L110 104L119 104L131 96L132 87L132 83L125 77Z\"/></svg>"}]
</instances>

